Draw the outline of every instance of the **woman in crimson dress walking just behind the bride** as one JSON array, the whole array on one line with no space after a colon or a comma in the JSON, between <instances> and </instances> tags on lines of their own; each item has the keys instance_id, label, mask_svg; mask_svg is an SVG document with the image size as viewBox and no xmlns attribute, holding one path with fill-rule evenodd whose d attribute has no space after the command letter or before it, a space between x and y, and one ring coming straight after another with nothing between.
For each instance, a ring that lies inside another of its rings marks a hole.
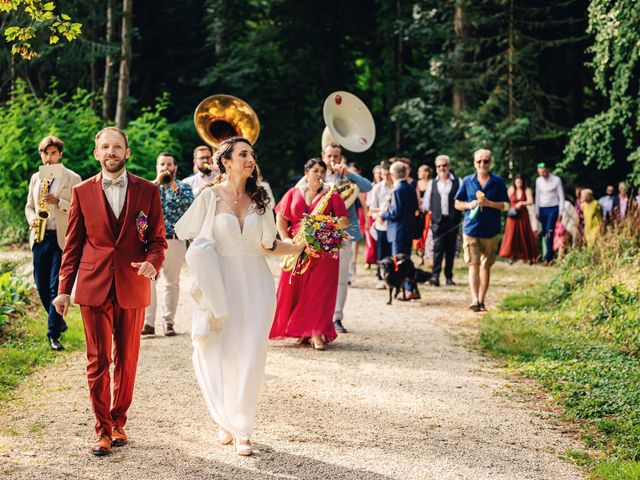
<instances>
[{"instance_id":1,"label":"woman in crimson dress walking just behind the bride","mask_svg":"<svg viewBox=\"0 0 640 480\"><path fill-rule=\"evenodd\" d=\"M282 240L291 241L300 228L305 213L311 213L327 195L323 186L326 164L312 158L304 166L306 182L290 189L275 208L276 225ZM322 212L339 217L345 227L349 214L342 198L333 193ZM282 270L276 294L276 313L269 338L298 338L307 340L316 350L324 350L325 343L336 338L333 326L333 310L338 291L339 260L328 255L311 257L309 267L302 275L291 275Z\"/></svg>"}]
</instances>

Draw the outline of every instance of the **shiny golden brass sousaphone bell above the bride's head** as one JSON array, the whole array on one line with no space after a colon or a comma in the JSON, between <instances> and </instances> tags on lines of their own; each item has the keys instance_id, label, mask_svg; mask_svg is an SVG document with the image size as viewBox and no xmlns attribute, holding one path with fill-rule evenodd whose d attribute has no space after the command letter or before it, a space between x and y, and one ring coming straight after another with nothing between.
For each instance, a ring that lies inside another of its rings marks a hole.
<instances>
[{"instance_id":1,"label":"shiny golden brass sousaphone bell above the bride's head","mask_svg":"<svg viewBox=\"0 0 640 480\"><path fill-rule=\"evenodd\" d=\"M193 114L200 138L213 148L231 137L244 137L252 144L260 135L260 121L251 106L233 95L213 95L200 102Z\"/></svg>"}]
</instances>

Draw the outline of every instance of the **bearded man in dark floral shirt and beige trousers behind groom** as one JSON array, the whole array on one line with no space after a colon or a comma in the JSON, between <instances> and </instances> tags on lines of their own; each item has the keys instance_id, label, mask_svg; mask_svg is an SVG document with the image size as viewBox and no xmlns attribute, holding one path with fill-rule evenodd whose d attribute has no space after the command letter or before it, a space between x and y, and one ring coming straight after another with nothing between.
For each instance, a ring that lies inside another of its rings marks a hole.
<instances>
[{"instance_id":1,"label":"bearded man in dark floral shirt and beige trousers behind groom","mask_svg":"<svg viewBox=\"0 0 640 480\"><path fill-rule=\"evenodd\" d=\"M167 337L176 334L173 322L178 307L180 295L180 269L184 255L187 252L185 243L178 240L174 226L193 202L191 187L176 181L178 165L176 158L167 152L161 152L156 160L156 179L154 183L160 190L164 227L167 235L168 248L165 252L165 262L160 270L160 277L164 278L164 291L161 300L161 315L164 324L164 334ZM151 304L147 307L144 318L142 335L155 335L156 323L156 295L157 282L151 282Z\"/></svg>"}]
</instances>

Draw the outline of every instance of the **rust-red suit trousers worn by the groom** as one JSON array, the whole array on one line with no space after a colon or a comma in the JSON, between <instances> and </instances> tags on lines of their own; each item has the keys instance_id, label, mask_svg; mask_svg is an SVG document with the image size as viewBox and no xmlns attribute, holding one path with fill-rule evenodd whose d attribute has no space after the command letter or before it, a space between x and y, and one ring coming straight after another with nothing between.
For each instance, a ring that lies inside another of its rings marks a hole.
<instances>
[{"instance_id":1,"label":"rust-red suit trousers worn by the groom","mask_svg":"<svg viewBox=\"0 0 640 480\"><path fill-rule=\"evenodd\" d=\"M121 308L115 295L99 307L80 306L87 342L87 380L96 433L111 436L124 427L133 398L144 308ZM113 354L113 405L109 367Z\"/></svg>"}]
</instances>

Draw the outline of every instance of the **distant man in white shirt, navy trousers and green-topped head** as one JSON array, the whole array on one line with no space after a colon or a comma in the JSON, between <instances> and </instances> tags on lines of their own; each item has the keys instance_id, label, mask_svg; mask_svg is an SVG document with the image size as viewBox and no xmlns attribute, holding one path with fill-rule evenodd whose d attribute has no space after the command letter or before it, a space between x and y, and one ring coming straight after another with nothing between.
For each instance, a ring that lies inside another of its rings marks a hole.
<instances>
[{"instance_id":1,"label":"distant man in white shirt, navy trousers and green-topped head","mask_svg":"<svg viewBox=\"0 0 640 480\"><path fill-rule=\"evenodd\" d=\"M556 220L564 206L564 189L560 177L553 175L544 162L538 164L538 175L540 176L536 179L536 216L542 224L544 260L548 265L553 260L553 235Z\"/></svg>"}]
</instances>

